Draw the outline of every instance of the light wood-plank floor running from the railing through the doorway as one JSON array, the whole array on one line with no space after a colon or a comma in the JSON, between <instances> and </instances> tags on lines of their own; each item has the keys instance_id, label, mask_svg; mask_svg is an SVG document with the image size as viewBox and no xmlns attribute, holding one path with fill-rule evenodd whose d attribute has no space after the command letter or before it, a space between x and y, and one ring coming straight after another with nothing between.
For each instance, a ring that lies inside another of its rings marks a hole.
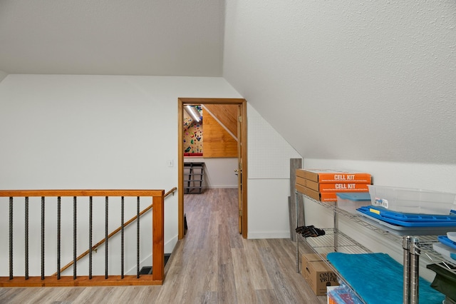
<instances>
[{"instance_id":1,"label":"light wood-plank floor running from the railing through the doorway","mask_svg":"<svg viewBox=\"0 0 456 304\"><path fill-rule=\"evenodd\" d=\"M291 240L239 235L237 189L185 195L185 213L162 286L0 288L0 303L326 303L296 273Z\"/></svg>"}]
</instances>

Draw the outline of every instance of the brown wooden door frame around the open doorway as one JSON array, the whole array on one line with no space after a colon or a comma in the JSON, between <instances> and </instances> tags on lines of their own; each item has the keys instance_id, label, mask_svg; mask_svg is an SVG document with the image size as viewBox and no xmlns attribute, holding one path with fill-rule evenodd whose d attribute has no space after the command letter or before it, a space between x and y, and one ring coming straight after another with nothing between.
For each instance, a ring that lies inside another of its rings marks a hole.
<instances>
[{"instance_id":1,"label":"brown wooden door frame around the open doorway","mask_svg":"<svg viewBox=\"0 0 456 304\"><path fill-rule=\"evenodd\" d=\"M243 98L178 98L178 238L185 236L184 218L184 146L183 121L185 106L237 105L237 157L238 157L238 198L239 233L247 238L247 101ZM204 153L203 153L204 154Z\"/></svg>"}]
</instances>

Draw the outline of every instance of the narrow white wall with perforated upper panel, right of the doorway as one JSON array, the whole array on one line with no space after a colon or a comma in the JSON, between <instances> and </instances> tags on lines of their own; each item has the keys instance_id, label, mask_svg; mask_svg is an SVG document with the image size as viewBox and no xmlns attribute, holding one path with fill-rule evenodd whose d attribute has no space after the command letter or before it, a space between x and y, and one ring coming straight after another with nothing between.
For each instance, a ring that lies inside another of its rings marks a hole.
<instances>
[{"instance_id":1,"label":"narrow white wall with perforated upper panel, right of the doorway","mask_svg":"<svg viewBox=\"0 0 456 304\"><path fill-rule=\"evenodd\" d=\"M248 238L289 238L290 158L299 153L247 105Z\"/></svg>"}]
</instances>

